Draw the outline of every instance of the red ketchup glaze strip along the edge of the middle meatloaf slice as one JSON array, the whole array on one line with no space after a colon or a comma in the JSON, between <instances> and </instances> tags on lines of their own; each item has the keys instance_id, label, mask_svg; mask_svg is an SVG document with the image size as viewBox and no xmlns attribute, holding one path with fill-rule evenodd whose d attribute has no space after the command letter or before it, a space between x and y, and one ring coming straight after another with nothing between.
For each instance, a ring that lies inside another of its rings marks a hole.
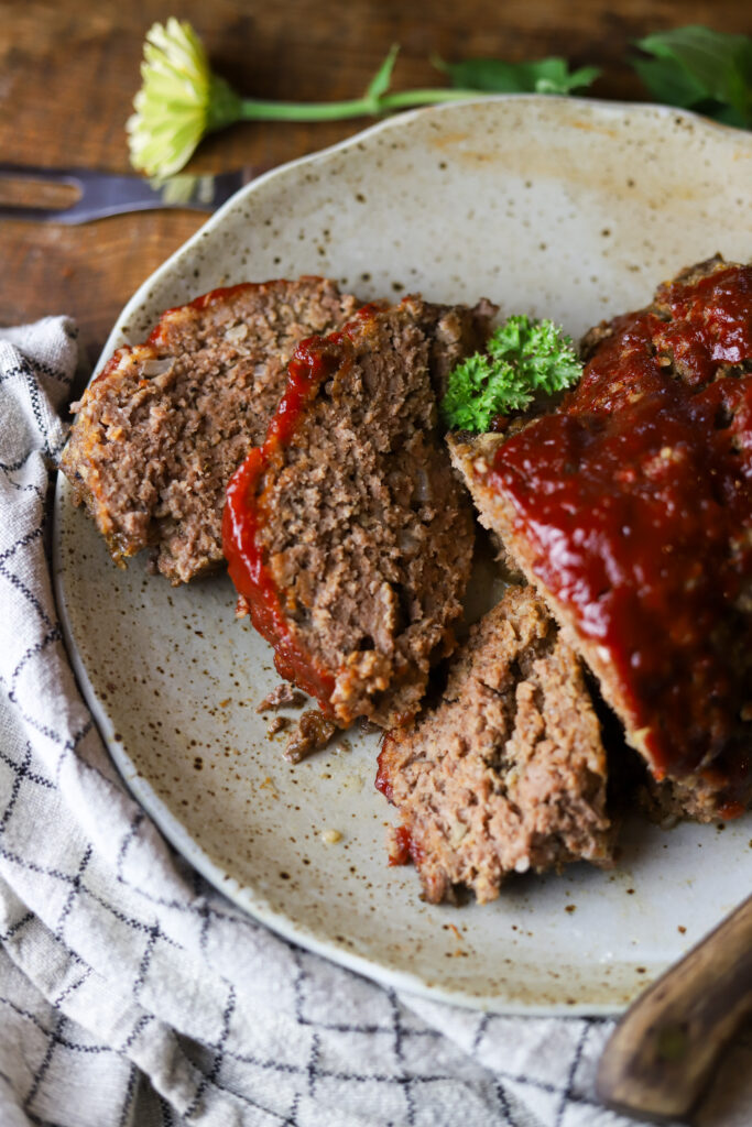
<instances>
[{"instance_id":1,"label":"red ketchup glaze strip along the edge of the middle meatloaf slice","mask_svg":"<svg viewBox=\"0 0 752 1127\"><path fill-rule=\"evenodd\" d=\"M285 392L266 432L263 446L254 447L236 470L227 489L222 515L222 543L230 578L247 601L254 627L274 646L280 676L294 681L328 715L335 686L331 673L318 664L291 631L282 610L280 592L266 564L260 532L266 521L265 476L281 464L308 406L320 385L352 362L352 336L363 320L381 307L359 310L340 332L309 337L298 345L287 366Z\"/></svg>"}]
</instances>

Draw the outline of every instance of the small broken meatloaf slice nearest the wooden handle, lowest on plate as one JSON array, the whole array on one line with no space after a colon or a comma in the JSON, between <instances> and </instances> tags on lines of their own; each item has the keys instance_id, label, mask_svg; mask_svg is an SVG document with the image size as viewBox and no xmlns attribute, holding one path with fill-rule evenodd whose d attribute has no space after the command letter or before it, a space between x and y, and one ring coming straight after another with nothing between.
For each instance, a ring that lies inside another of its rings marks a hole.
<instances>
[{"instance_id":1,"label":"small broken meatloaf slice nearest the wooden handle, lowest on plate","mask_svg":"<svg viewBox=\"0 0 752 1127\"><path fill-rule=\"evenodd\" d=\"M425 899L494 899L511 872L610 860L605 755L580 662L531 587L472 628L437 708L387 735L377 787Z\"/></svg>"}]
</instances>

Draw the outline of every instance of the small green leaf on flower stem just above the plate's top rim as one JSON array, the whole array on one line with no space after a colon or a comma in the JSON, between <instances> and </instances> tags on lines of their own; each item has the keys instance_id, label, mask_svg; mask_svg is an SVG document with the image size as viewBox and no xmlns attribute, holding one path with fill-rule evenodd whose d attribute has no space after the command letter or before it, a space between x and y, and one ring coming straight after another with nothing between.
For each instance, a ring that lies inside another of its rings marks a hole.
<instances>
[{"instance_id":1,"label":"small green leaf on flower stem just above the plate's top rim","mask_svg":"<svg viewBox=\"0 0 752 1127\"><path fill-rule=\"evenodd\" d=\"M449 74L453 86L485 94L569 94L590 86L601 73L596 66L582 66L570 72L564 59L522 63L507 63L501 59L445 63L433 59L433 64Z\"/></svg>"}]
</instances>

